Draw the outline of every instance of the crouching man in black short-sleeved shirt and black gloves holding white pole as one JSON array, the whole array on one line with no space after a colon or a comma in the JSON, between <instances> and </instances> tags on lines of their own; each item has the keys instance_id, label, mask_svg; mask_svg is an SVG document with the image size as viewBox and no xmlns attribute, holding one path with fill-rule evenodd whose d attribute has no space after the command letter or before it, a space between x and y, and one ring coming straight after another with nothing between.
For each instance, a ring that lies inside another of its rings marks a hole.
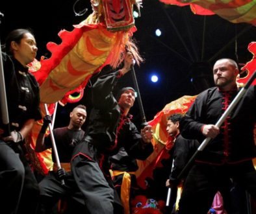
<instances>
[{"instance_id":1,"label":"crouching man in black short-sleeved shirt and black gloves holding white pole","mask_svg":"<svg viewBox=\"0 0 256 214\"><path fill-rule=\"evenodd\" d=\"M53 171L49 171L49 174L39 183L40 213L51 213L53 206L60 198L73 198L79 204L84 205L83 198L77 191L77 185L71 175L70 160L73 148L77 145L77 142L83 139L84 131L81 126L86 120L86 115L86 107L80 104L70 112L70 124L68 126L53 130L58 158L62 168L58 169L53 152ZM43 152L46 149L53 148L51 137L45 137L45 131L49 123L51 123L51 117L46 115L44 117L44 125L36 140L36 152ZM62 179L64 179L65 185L62 185Z\"/></svg>"}]
</instances>

